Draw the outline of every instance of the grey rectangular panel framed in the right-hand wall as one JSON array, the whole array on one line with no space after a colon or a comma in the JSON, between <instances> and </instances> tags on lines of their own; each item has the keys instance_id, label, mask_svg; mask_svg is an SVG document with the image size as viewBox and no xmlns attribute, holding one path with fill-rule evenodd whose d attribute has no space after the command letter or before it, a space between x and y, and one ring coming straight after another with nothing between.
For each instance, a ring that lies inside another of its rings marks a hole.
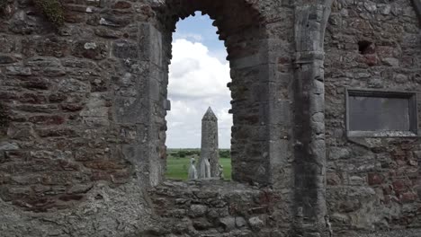
<instances>
[{"instance_id":1,"label":"grey rectangular panel framed in the right-hand wall","mask_svg":"<svg viewBox=\"0 0 421 237\"><path fill-rule=\"evenodd\" d=\"M346 90L348 136L417 136L417 93Z\"/></svg>"}]
</instances>

